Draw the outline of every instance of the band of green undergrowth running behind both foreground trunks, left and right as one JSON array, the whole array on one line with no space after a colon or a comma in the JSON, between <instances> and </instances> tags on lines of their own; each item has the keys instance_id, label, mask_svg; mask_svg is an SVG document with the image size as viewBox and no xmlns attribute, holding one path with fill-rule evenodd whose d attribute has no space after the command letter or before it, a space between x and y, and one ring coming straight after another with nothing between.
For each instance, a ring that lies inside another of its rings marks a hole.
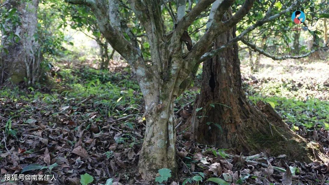
<instances>
[{"instance_id":1,"label":"band of green undergrowth running behind both foreground trunks, left and right","mask_svg":"<svg viewBox=\"0 0 329 185\"><path fill-rule=\"evenodd\" d=\"M97 70L90 67L65 68L52 72L56 85L37 84L33 87L0 88L0 100L13 100L33 102L40 100L47 106L67 106L77 104L90 95L93 107L92 111L99 111L104 116L121 117L128 112L141 113L143 109L143 97L138 83L129 68L120 72ZM329 130L329 102L316 98L299 100L297 98L283 96L267 96L258 94L255 87L244 86L249 93L248 98L256 103L259 100L271 104L281 114L284 121L291 125L293 130L305 127L309 130L325 128ZM250 90L253 88L254 90ZM279 86L272 86L270 91L276 91ZM176 100L177 106L182 106L195 100L199 93L197 86L186 90ZM192 103L193 105L193 103ZM14 114L14 112L13 112Z\"/></svg>"}]
</instances>

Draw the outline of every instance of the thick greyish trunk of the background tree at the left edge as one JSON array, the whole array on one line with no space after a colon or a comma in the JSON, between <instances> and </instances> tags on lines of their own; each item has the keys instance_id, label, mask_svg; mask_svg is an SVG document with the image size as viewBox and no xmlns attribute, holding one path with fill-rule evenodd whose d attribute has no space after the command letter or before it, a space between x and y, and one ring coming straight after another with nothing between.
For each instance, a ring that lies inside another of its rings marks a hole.
<instances>
[{"instance_id":1,"label":"thick greyish trunk of the background tree at the left edge","mask_svg":"<svg viewBox=\"0 0 329 185\"><path fill-rule=\"evenodd\" d=\"M8 10L11 8L17 9L21 25L13 29L14 34L20 37L18 42L14 41L15 38L8 40L6 36L1 39L2 45L8 51L8 53L1 53L3 65L2 81L10 78L13 83L18 83L26 77L32 77L39 70L37 66L40 60L35 57L38 56L38 52L35 49L37 42L34 38L38 24L38 0L7 0L7 2L9 2L6 5ZM10 22L6 24L10 24ZM36 78L29 78L28 80L29 83L33 83Z\"/></svg>"}]
</instances>

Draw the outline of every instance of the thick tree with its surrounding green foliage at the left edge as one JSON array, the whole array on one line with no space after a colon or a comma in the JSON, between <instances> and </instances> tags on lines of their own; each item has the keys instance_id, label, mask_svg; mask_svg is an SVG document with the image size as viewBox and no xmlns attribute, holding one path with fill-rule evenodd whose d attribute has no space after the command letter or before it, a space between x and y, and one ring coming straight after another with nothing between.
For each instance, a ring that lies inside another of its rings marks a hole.
<instances>
[{"instance_id":1,"label":"thick tree with its surrounding green foliage at the left edge","mask_svg":"<svg viewBox=\"0 0 329 185\"><path fill-rule=\"evenodd\" d=\"M46 82L64 41L58 12L49 2L25 0L4 2L0 11L0 83Z\"/></svg>"}]
</instances>

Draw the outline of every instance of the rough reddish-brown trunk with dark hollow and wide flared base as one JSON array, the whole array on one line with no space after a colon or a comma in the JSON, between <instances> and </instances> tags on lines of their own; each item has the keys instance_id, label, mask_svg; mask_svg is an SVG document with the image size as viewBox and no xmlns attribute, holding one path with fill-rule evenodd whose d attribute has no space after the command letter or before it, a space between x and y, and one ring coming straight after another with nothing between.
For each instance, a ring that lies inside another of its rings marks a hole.
<instances>
[{"instance_id":1,"label":"rough reddish-brown trunk with dark hollow and wide flared base","mask_svg":"<svg viewBox=\"0 0 329 185\"><path fill-rule=\"evenodd\" d=\"M215 48L235 37L230 30L215 40ZM241 88L238 45L203 63L200 96L195 101L192 132L198 142L233 149L236 152L267 150L270 155L287 154L296 160L311 161L320 150L316 144L292 132L268 104L249 104ZM203 107L196 112L196 108ZM320 156L319 156L320 155Z\"/></svg>"}]
</instances>

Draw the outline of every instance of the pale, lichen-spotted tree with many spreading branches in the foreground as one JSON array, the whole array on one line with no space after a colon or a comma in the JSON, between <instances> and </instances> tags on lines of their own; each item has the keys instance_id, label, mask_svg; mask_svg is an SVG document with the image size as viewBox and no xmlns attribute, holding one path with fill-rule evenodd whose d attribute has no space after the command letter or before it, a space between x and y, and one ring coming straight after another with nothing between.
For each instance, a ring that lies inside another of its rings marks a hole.
<instances>
[{"instance_id":1,"label":"pale, lichen-spotted tree with many spreading branches in the foreground","mask_svg":"<svg viewBox=\"0 0 329 185\"><path fill-rule=\"evenodd\" d=\"M245 29L239 36L233 37L232 29L249 12L254 1L238 2L239 6L237 7L239 8L237 8L234 14L232 13L232 16L227 16L225 13L231 14L230 7L234 4L234 1L218 0L214 3L214 0L201 0L196 4L192 4L190 11L187 13L186 1L180 2L173 8L177 10L177 19L172 13L173 11L169 13L175 25L167 27L163 21L163 14L166 12L164 11L165 7L169 7L169 2L132 0L129 7L124 8L131 9L135 13L145 30L151 56L151 61L148 62L143 56L144 53L140 50L136 34L132 32L129 26L121 25L123 17L119 14L119 6L122 7L122 5L118 1L67 1L72 4L87 5L92 10L102 35L127 60L133 73L136 75L145 100L146 132L139 155L139 172L146 180L154 178L158 169L170 168L174 170L176 167L174 101L189 87L194 79L195 69L197 69L199 64L217 54L221 54L223 49L242 40L243 36L250 31L278 18L280 15L291 11L297 4L304 2L303 0L294 1L287 9L272 16L265 16L254 25ZM191 47L192 42L186 30L198 16L202 16L203 12L210 8L211 4L213 4L211 8L213 13L209 15L209 27L206 33L200 36L193 47ZM171 4L171 6L173 7L174 5ZM271 8L272 6L268 9L268 13L271 13ZM170 10L170 8L168 9ZM227 34L227 32L230 33L227 35L229 41L210 51L213 41L219 35ZM184 52L182 42L187 45L189 52ZM250 47L257 50L254 45ZM234 50L234 55L230 56L232 57L230 61L235 65L234 69L237 69L236 66L238 65L238 62L234 62L233 58L233 56L236 56L236 52ZM262 54L267 55L264 52ZM222 70L225 72L229 69L223 68ZM239 91L239 70L236 70L232 75L231 78L234 83L231 82L226 85L231 85L228 89L235 90L236 92L234 93L239 94L241 93ZM212 84L211 81L209 82ZM243 96L240 97L243 98ZM260 120L264 121L264 119L265 117L260 117ZM299 141L299 138L295 137L291 137L291 139L293 139L292 143L305 142ZM303 150L302 152L308 152L305 148L301 148L301 150ZM307 157L310 157L310 155L307 155Z\"/></svg>"}]
</instances>

